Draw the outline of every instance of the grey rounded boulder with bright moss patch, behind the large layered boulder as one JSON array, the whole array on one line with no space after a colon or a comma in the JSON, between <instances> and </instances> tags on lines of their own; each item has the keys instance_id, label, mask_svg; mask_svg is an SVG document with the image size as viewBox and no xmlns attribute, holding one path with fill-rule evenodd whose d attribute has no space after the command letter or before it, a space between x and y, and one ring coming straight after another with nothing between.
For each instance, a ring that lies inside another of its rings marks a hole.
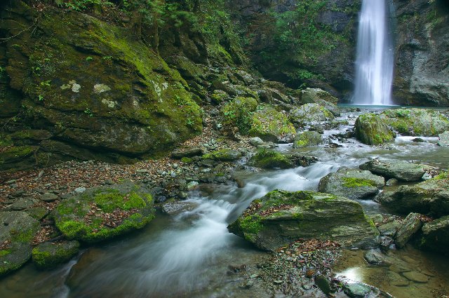
<instances>
[{"instance_id":1,"label":"grey rounded boulder with bright moss patch, behind the large layered boulder","mask_svg":"<svg viewBox=\"0 0 449 298\"><path fill-rule=\"evenodd\" d=\"M383 177L373 175L368 170L340 168L321 178L318 189L356 200L374 196L384 183Z\"/></svg>"}]
</instances>

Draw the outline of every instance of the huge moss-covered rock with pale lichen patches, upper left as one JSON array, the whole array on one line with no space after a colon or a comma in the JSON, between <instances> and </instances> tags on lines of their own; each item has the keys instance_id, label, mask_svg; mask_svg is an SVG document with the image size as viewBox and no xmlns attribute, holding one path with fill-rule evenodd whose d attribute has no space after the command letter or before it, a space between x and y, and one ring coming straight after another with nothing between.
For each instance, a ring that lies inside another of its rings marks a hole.
<instances>
[{"instance_id":1,"label":"huge moss-covered rock with pale lichen patches, upper left","mask_svg":"<svg viewBox=\"0 0 449 298\"><path fill-rule=\"evenodd\" d=\"M133 29L53 6L38 16L25 1L1 18L2 34L13 36L4 69L22 94L22 122L67 146L107 152L95 158L157 156L201 132L186 81ZM39 34L22 30L29 27Z\"/></svg>"}]
</instances>

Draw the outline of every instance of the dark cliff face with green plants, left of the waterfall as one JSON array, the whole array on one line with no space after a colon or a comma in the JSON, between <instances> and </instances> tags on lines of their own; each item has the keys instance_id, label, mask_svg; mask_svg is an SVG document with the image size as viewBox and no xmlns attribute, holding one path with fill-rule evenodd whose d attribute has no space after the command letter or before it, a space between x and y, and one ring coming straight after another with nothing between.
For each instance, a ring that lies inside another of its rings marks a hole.
<instances>
[{"instance_id":1,"label":"dark cliff face with green plants, left of the waterfall","mask_svg":"<svg viewBox=\"0 0 449 298\"><path fill-rule=\"evenodd\" d=\"M352 90L360 0L232 0L229 6L264 76L340 97Z\"/></svg>"}]
</instances>

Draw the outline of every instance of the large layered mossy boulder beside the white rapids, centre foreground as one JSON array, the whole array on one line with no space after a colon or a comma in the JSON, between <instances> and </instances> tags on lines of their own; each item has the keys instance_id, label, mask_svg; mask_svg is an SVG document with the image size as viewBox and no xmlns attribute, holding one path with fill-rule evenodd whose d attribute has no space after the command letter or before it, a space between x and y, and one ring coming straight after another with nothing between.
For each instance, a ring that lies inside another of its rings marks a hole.
<instances>
[{"instance_id":1,"label":"large layered mossy boulder beside the white rapids, centre foreground","mask_svg":"<svg viewBox=\"0 0 449 298\"><path fill-rule=\"evenodd\" d=\"M271 191L253 201L228 229L264 250L299 238L371 246L378 235L359 203L313 191Z\"/></svg>"}]
</instances>

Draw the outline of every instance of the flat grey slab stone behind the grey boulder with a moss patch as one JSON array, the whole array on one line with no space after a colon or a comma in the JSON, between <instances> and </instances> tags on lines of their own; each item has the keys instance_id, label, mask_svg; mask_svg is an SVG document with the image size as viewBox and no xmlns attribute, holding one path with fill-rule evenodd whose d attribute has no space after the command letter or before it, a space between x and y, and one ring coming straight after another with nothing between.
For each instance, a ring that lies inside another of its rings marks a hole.
<instances>
[{"instance_id":1,"label":"flat grey slab stone behind the grey boulder with a moss patch","mask_svg":"<svg viewBox=\"0 0 449 298\"><path fill-rule=\"evenodd\" d=\"M373 174L387 178L392 177L406 182L421 181L422 175L427 170L434 170L429 165L408 163L406 161L380 161L378 159L363 163L359 168L361 170L369 170Z\"/></svg>"}]
</instances>

